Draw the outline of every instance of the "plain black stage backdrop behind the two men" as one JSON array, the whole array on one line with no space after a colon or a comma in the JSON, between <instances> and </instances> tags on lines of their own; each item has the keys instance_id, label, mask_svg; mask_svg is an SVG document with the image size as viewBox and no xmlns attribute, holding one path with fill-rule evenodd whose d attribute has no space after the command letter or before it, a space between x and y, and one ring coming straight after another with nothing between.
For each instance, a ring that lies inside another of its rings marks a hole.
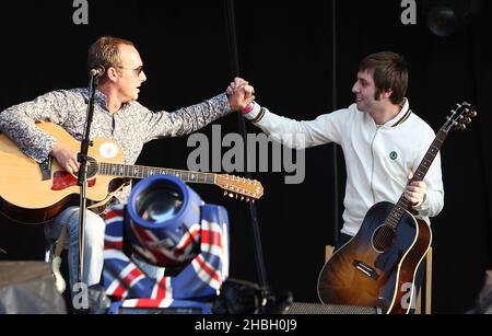
<instances>
[{"instance_id":1,"label":"plain black stage backdrop behind the two men","mask_svg":"<svg viewBox=\"0 0 492 336\"><path fill-rule=\"evenodd\" d=\"M412 109L435 130L455 102L478 105L471 128L453 134L444 146L445 208L432 225L434 312L460 313L473 304L483 270L491 266L492 9L482 1L471 25L443 38L427 30L423 1L417 2L417 25L401 23L399 0L338 2L337 104L353 102L360 59L389 49L409 61ZM104 34L137 44L148 76L140 102L152 109L198 103L223 92L231 80L223 1L89 1L87 25L73 24L72 1L5 3L0 4L0 111L54 89L86 85L86 49ZM242 74L255 85L259 103L297 119L331 109L332 14L330 1L237 1ZM223 135L237 132L235 116L215 124ZM211 137L211 130L202 132ZM138 163L186 169L192 151L186 141L151 142ZM283 173L254 173L266 190L257 207L269 282L276 291L291 290L297 301L317 300L325 245L333 243L331 153L331 144L306 151L301 185L285 185ZM342 196L344 163L338 165ZM206 201L229 210L231 275L257 281L247 206L213 187L194 187ZM0 247L9 253L0 258L43 258L40 227L0 219Z\"/></svg>"}]
</instances>

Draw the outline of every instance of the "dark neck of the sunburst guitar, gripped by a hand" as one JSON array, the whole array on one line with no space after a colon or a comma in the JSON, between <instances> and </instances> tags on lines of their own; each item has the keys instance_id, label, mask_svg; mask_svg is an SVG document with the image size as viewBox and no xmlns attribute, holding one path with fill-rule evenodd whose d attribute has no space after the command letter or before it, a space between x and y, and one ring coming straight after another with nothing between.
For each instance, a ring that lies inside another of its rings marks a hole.
<instances>
[{"instance_id":1,"label":"dark neck of the sunburst guitar, gripped by a hand","mask_svg":"<svg viewBox=\"0 0 492 336\"><path fill-rule=\"evenodd\" d=\"M414 172L413 177L411 179L412 182L413 181L420 182L424 179L425 175L429 172L429 169L431 167L432 163L435 160L435 157L437 157L437 153L443 147L444 141L447 138L447 135L448 135L447 130L444 127L441 128L431 147L429 148L427 152L425 153L425 157L422 159L422 162ZM393 229L396 229L401 218L403 217L406 211L410 209L410 207L411 207L410 201L405 197L403 193L398 202L396 204L396 206L394 207L391 213L386 219L385 224Z\"/></svg>"}]
</instances>

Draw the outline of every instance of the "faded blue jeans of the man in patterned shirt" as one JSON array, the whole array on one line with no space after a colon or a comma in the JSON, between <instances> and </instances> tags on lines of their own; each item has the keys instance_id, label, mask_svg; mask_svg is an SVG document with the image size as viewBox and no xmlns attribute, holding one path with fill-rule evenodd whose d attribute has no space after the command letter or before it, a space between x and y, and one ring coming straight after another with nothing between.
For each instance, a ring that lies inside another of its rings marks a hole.
<instances>
[{"instance_id":1,"label":"faded blue jeans of the man in patterned shirt","mask_svg":"<svg viewBox=\"0 0 492 336\"><path fill-rule=\"evenodd\" d=\"M60 212L51 222L45 224L45 236L48 242L58 240L61 229L67 227L68 266L70 288L79 282L79 207L69 207ZM91 210L85 215L84 228L84 277L87 286L97 285L104 264L104 232L106 223L103 218ZM73 291L72 291L73 292Z\"/></svg>"}]
</instances>

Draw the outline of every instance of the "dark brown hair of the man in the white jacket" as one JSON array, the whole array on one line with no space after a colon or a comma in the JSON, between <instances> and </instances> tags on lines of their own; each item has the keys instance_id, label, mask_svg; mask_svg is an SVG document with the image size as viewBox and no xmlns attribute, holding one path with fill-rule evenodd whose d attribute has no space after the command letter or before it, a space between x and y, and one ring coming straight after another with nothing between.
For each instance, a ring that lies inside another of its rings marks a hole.
<instances>
[{"instance_id":1,"label":"dark brown hair of the man in the white jacket","mask_svg":"<svg viewBox=\"0 0 492 336\"><path fill-rule=\"evenodd\" d=\"M382 51L366 56L359 65L359 71L372 70L377 100L383 91L393 90L393 104L401 104L408 89L408 67L402 55Z\"/></svg>"}]
</instances>

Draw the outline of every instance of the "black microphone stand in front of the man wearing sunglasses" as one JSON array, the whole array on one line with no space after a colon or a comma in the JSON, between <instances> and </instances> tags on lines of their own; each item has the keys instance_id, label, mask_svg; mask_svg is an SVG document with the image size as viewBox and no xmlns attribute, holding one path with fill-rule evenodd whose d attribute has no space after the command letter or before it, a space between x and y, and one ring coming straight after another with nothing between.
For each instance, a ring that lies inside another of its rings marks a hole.
<instances>
[{"instance_id":1,"label":"black microphone stand in front of the man wearing sunglasses","mask_svg":"<svg viewBox=\"0 0 492 336\"><path fill-rule=\"evenodd\" d=\"M82 283L84 279L84 244L85 244L85 211L87 209L87 154L89 147L92 146L90 140L91 125L94 116L94 97L96 89L97 73L90 73L89 80L89 104L87 104L87 119L85 121L84 137L81 142L78 161L80 162L79 179L80 186L80 209L79 209L79 282Z\"/></svg>"}]
</instances>

